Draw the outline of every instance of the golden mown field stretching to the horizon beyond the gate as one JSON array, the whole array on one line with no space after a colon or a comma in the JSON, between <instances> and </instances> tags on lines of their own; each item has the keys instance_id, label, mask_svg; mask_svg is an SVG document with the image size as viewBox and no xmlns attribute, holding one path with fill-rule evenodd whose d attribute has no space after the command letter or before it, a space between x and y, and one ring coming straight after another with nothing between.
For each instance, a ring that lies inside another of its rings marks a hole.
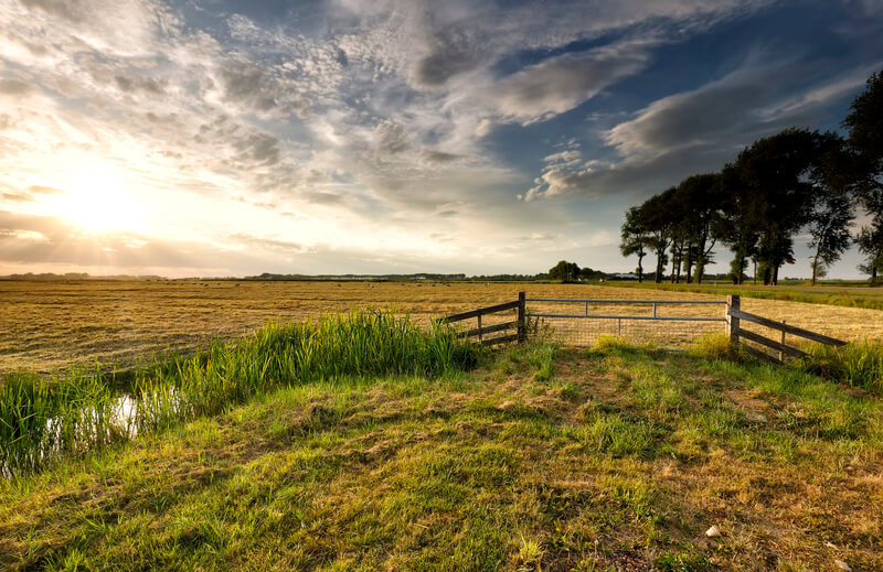
<instances>
[{"instance_id":1,"label":"golden mown field stretching to the horizon beyond the gate","mask_svg":"<svg viewBox=\"0 0 883 572\"><path fill-rule=\"evenodd\" d=\"M514 300L520 290L529 298L723 300L549 283L0 281L0 373L55 371L96 359L126 368L153 352L236 336L268 320L305 320L365 305L396 307L425 323ZM742 307L843 339L883 337L883 313L874 310L748 298Z\"/></svg>"}]
</instances>

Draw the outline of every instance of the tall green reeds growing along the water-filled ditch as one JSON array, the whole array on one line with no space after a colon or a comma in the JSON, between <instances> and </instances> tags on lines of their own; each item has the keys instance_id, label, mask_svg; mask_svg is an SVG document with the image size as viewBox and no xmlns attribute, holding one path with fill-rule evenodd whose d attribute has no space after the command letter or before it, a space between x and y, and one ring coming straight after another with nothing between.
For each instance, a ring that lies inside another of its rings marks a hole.
<instances>
[{"instance_id":1,"label":"tall green reeds growing along the water-filled ditch","mask_svg":"<svg viewBox=\"0 0 883 572\"><path fill-rule=\"evenodd\" d=\"M317 379L426 376L472 367L479 349L449 325L359 310L269 323L251 336L168 354L139 368L120 395L94 371L0 382L0 472L39 471L140 432L214 414L258 393Z\"/></svg>"}]
</instances>

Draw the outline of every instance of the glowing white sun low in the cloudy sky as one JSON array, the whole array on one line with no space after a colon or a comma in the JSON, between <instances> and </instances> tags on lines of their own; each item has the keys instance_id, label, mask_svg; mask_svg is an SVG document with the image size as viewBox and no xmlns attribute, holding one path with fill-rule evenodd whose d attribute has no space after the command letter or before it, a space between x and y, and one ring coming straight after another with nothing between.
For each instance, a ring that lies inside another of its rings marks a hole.
<instances>
[{"instance_id":1,"label":"glowing white sun low in the cloudy sky","mask_svg":"<svg viewBox=\"0 0 883 572\"><path fill-rule=\"evenodd\" d=\"M124 176L108 166L83 168L72 173L65 192L54 203L55 214L78 230L105 234L139 231L142 208L126 187Z\"/></svg>"}]
</instances>

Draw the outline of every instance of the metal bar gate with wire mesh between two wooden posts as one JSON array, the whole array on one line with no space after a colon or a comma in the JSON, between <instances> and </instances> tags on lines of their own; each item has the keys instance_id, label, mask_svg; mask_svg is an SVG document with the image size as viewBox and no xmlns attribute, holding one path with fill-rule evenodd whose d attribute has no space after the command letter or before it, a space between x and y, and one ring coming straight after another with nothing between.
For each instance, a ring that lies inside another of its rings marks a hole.
<instances>
[{"instance_id":1,"label":"metal bar gate with wire mesh between two wooden posts","mask_svg":"<svg viewBox=\"0 0 883 572\"><path fill-rule=\"evenodd\" d=\"M571 300L528 298L528 331L585 347L603 335L684 349L699 337L726 331L726 301Z\"/></svg>"}]
</instances>

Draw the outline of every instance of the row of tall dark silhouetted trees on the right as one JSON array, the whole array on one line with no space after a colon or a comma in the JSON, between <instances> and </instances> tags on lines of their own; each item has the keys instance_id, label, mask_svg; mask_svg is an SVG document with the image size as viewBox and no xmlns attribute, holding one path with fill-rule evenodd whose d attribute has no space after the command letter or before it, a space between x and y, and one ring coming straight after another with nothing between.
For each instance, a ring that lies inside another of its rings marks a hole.
<instances>
[{"instance_id":1,"label":"row of tall dark silhouetted trees on the right","mask_svg":"<svg viewBox=\"0 0 883 572\"><path fill-rule=\"evenodd\" d=\"M883 276L883 72L843 120L847 139L831 132L786 129L755 141L719 173L693 175L626 212L623 256L656 257L655 279L671 262L672 282L701 282L714 247L733 253L731 278L742 283L749 262L754 276L775 284L779 269L794 263L794 240L804 233L812 251L812 282L854 241L862 272L876 284ZM853 237L861 208L869 223ZM639 278L640 279L640 278Z\"/></svg>"}]
</instances>

